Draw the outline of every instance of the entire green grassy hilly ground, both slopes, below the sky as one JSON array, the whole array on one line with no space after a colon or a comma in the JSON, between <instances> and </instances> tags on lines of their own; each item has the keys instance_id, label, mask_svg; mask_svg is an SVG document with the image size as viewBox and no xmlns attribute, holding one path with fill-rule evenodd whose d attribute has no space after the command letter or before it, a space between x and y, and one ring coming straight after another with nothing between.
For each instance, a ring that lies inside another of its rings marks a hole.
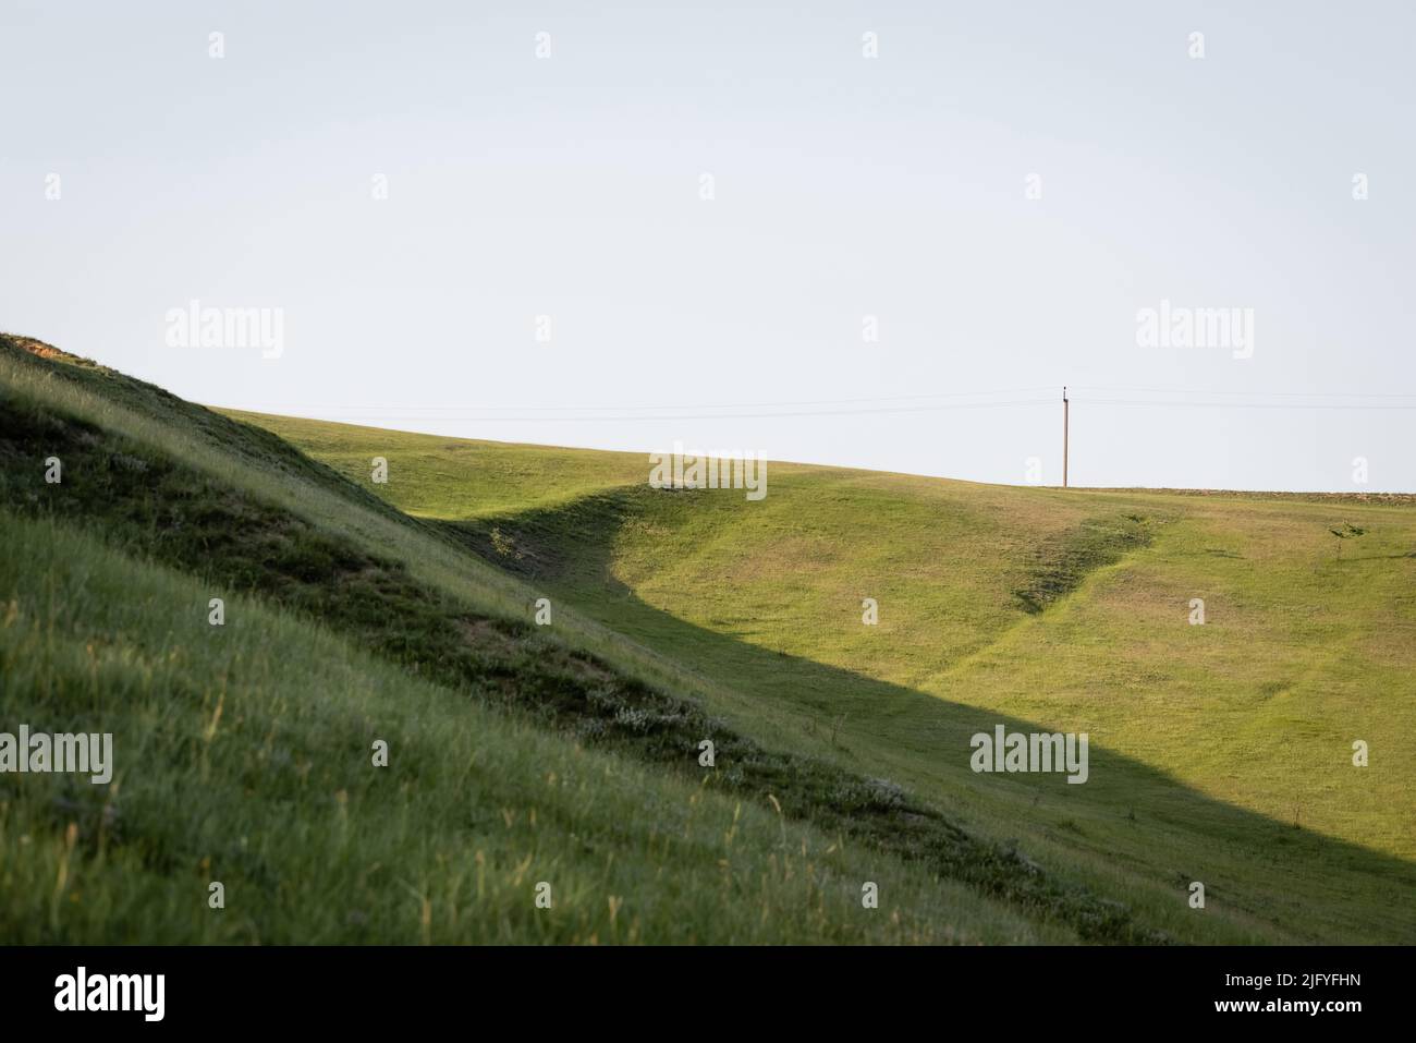
<instances>
[{"instance_id":1,"label":"entire green grassy hilly ground, both slopes, below the sky","mask_svg":"<svg viewBox=\"0 0 1416 1043\"><path fill-rule=\"evenodd\" d=\"M1410 504L646 475L0 337L0 731L119 765L0 774L6 937L1416 940ZM973 774L997 723L1089 782Z\"/></svg>"}]
</instances>

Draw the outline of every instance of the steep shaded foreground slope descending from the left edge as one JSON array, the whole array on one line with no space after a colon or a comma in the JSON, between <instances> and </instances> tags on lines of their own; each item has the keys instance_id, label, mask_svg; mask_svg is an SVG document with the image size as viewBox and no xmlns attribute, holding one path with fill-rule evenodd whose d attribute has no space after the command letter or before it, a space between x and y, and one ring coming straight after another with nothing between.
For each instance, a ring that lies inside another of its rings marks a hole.
<instances>
[{"instance_id":1,"label":"steep shaded foreground slope descending from the left edge","mask_svg":"<svg viewBox=\"0 0 1416 1043\"><path fill-rule=\"evenodd\" d=\"M112 731L119 761L109 788L0 775L10 938L1165 938L892 782L735 731L565 607L531 626L532 591L459 533L263 431L16 339L0 388L0 721Z\"/></svg>"}]
</instances>

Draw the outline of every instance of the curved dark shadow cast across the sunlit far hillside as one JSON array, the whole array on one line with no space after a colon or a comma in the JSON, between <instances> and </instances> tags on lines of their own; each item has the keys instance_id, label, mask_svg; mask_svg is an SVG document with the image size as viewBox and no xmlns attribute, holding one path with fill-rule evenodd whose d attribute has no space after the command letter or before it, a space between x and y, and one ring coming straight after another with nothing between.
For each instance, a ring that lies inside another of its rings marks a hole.
<instances>
[{"instance_id":1,"label":"curved dark shadow cast across the sunlit far hillside","mask_svg":"<svg viewBox=\"0 0 1416 1043\"><path fill-rule=\"evenodd\" d=\"M902 771L906 782L922 781L936 795L963 788L1004 821L1011 809L1049 840L1172 886L1177 903L1185 901L1189 881L1205 881L1211 901L1272 923L1294 940L1416 940L1416 908L1402 897L1416 887L1416 866L1403 859L1216 801L1096 743L1085 785L1069 785L1059 774L973 774L970 738L976 733L993 733L997 724L1022 733L1052 728L750 645L646 604L613 577L613 547L626 522L646 507L644 497L664 495L619 489L554 509L438 524L576 611L760 700L777 718L794 718L857 771ZM692 509L683 497L674 503L674 510ZM664 517L660 512L656 522ZM1134 537L1126 539L1134 544ZM1137 816L1150 829L1140 829ZM1127 830L1134 830L1134 839L1127 839ZM1158 852L1172 863L1160 877ZM1263 883L1231 884L1225 862Z\"/></svg>"}]
</instances>

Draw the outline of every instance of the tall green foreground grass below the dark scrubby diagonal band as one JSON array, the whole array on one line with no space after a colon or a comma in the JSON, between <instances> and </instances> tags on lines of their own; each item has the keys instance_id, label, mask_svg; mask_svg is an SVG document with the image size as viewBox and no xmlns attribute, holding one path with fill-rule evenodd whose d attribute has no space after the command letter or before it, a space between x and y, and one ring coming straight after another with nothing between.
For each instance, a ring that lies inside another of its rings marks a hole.
<instances>
[{"instance_id":1,"label":"tall green foreground grass below the dark scrubby diagonal band","mask_svg":"<svg viewBox=\"0 0 1416 1043\"><path fill-rule=\"evenodd\" d=\"M118 764L110 787L0 777L8 942L1069 937L707 772L508 720L303 616L234 598L210 628L208 584L69 527L7 519L4 550L6 723L112 731Z\"/></svg>"}]
</instances>

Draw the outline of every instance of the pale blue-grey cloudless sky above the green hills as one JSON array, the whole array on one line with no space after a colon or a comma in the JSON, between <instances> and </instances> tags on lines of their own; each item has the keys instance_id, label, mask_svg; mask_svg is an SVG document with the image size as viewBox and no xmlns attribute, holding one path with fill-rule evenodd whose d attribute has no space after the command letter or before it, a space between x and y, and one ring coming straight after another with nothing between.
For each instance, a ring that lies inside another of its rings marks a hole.
<instances>
[{"instance_id":1,"label":"pale blue-grey cloudless sky above the green hills","mask_svg":"<svg viewBox=\"0 0 1416 1043\"><path fill-rule=\"evenodd\" d=\"M1007 483L1061 480L1069 384L1073 485L1413 490L1413 11L0 0L0 329L218 405ZM169 346L194 299L279 357ZM1163 300L1252 357L1138 343Z\"/></svg>"}]
</instances>

